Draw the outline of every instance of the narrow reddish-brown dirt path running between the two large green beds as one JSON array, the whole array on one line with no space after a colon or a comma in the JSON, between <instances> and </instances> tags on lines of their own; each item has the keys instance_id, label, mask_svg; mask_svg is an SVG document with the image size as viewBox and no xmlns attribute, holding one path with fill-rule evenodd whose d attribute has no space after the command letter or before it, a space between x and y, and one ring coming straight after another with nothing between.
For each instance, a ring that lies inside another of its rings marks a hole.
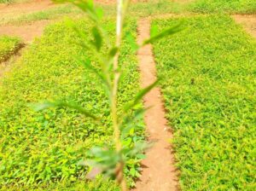
<instances>
[{"instance_id":1,"label":"narrow reddish-brown dirt path running between the two large green beds","mask_svg":"<svg viewBox=\"0 0 256 191\"><path fill-rule=\"evenodd\" d=\"M138 43L149 37L150 21L143 19L138 24ZM156 77L154 56L151 45L145 46L137 53L140 63L142 86L152 84ZM173 191L178 190L177 169L169 140L172 138L170 127L165 118L164 104L159 88L151 90L144 98L144 106L154 106L145 114L148 139L154 146L148 150L143 160L143 172L134 191Z\"/></svg>"}]
</instances>

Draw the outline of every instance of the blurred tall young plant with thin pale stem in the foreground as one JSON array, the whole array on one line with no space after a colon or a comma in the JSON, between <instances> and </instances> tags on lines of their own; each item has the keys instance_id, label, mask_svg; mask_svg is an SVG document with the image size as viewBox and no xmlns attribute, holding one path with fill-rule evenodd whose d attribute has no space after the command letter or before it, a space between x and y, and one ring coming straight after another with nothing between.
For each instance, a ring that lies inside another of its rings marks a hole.
<instances>
[{"instance_id":1,"label":"blurred tall young plant with thin pale stem in the foreground","mask_svg":"<svg viewBox=\"0 0 256 191\"><path fill-rule=\"evenodd\" d=\"M78 42L82 49L84 49L84 51L87 51L88 49L92 50L97 58L99 68L96 67L89 59L85 61L79 60L79 63L81 63L86 69L93 72L96 77L101 80L106 95L108 96L108 106L110 110L110 117L112 119L114 149L99 147L91 148L90 155L92 159L82 161L80 165L90 165L96 169L97 171L93 173L92 177L96 176L96 174L100 172L110 177L114 177L119 183L121 189L125 191L127 190L127 183L124 175L126 162L128 159L136 156L137 153L143 153L143 151L149 147L149 144L147 142L137 142L133 148L127 148L124 146L122 141L124 137L127 136L127 133L125 132L131 129L131 122L136 121L137 118L142 116L145 112L145 109L136 109L137 105L140 104L143 96L145 96L148 91L152 90L157 84L157 82L154 82L154 84L144 88L138 92L133 101L127 103L124 108L118 108L119 81L122 75L122 67L119 66L119 50L122 42L122 31L129 0L118 0L117 2L116 40L114 44L110 43L108 32L106 32L101 25L102 9L97 9L92 1L56 0L55 2L73 3L73 5L79 7L79 9L86 13L94 24L91 30L93 39L90 43L84 43L88 37L72 21L68 21L68 25L73 27L73 30L77 32L79 38L82 39ZM135 50L180 30L181 28L179 26L174 26L164 32L154 34L153 37L146 39L142 44L137 45ZM106 50L102 50L103 43L106 43ZM86 117L95 119L97 123L100 123L101 121L98 116L95 116L86 111L83 107L70 102L44 102L43 104L38 104L36 108L37 110L42 110L49 107L70 107L78 110L80 113L83 113ZM130 114L131 111L135 113L132 117Z\"/></svg>"}]
</instances>

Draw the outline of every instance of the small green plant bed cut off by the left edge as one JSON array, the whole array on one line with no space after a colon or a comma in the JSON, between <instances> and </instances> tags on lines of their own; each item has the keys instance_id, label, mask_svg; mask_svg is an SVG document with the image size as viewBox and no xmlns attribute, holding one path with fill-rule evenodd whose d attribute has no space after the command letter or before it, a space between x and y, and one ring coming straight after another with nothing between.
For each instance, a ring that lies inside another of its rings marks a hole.
<instances>
[{"instance_id":1,"label":"small green plant bed cut off by the left edge","mask_svg":"<svg viewBox=\"0 0 256 191\"><path fill-rule=\"evenodd\" d=\"M0 62L5 61L10 55L20 48L20 38L11 38L7 36L0 37Z\"/></svg>"}]
</instances>

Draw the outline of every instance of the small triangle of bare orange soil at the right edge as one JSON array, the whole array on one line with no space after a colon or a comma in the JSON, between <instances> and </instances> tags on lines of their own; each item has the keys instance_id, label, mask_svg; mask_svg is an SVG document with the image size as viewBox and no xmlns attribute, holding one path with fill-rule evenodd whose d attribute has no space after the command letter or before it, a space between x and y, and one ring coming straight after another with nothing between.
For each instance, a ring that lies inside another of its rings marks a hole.
<instances>
[{"instance_id":1,"label":"small triangle of bare orange soil at the right edge","mask_svg":"<svg viewBox=\"0 0 256 191\"><path fill-rule=\"evenodd\" d=\"M250 33L254 38L256 38L256 14L250 15L233 15L234 20L238 24L244 26L245 30Z\"/></svg>"}]
</instances>

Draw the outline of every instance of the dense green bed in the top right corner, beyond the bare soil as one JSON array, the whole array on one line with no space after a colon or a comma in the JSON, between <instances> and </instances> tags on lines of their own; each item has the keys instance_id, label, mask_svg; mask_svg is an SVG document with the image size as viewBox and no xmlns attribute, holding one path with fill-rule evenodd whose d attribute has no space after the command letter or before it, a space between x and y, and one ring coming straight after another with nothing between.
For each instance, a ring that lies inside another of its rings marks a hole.
<instances>
[{"instance_id":1,"label":"dense green bed in the top right corner, beyond the bare soil","mask_svg":"<svg viewBox=\"0 0 256 191\"><path fill-rule=\"evenodd\" d=\"M200 13L225 12L255 14L255 0L196 0L189 4L189 10Z\"/></svg>"}]
</instances>

